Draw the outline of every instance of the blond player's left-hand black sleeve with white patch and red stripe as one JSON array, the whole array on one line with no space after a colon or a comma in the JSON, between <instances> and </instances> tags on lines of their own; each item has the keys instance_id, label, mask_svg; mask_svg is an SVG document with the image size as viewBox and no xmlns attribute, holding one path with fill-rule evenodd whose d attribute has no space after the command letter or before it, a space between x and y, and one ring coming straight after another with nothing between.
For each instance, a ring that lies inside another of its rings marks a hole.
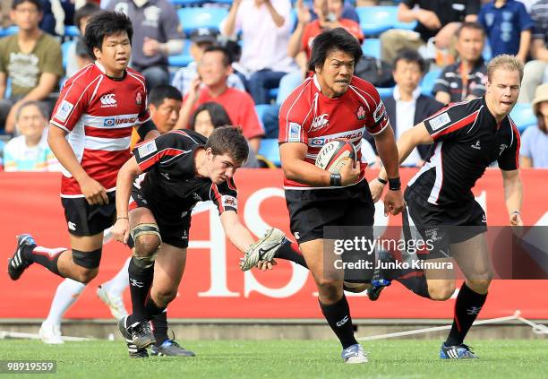
<instances>
[{"instance_id":1,"label":"blond player's left-hand black sleeve with white patch and red stripe","mask_svg":"<svg viewBox=\"0 0 548 379\"><path fill-rule=\"evenodd\" d=\"M458 139L466 133L466 126L475 123L479 112L477 109L470 113L466 103L453 105L426 118L424 126L435 142Z\"/></svg>"}]
</instances>

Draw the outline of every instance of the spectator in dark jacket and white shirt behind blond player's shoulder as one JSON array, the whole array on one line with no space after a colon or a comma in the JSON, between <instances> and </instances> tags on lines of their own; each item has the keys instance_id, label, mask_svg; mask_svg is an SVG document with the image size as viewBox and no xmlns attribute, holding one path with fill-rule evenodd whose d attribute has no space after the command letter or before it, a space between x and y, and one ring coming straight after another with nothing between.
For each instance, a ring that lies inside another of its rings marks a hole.
<instances>
[{"instance_id":1,"label":"spectator in dark jacket and white shirt behind blond player's shoulder","mask_svg":"<svg viewBox=\"0 0 548 379\"><path fill-rule=\"evenodd\" d=\"M414 125L443 108L443 103L421 94L419 82L424 75L424 59L415 50L400 50L394 61L394 81L396 87L391 96L382 102L397 139ZM373 139L365 134L366 140L374 147ZM365 145L365 143L362 143ZM422 166L430 157L430 146L417 146L400 166ZM377 157L377 162L379 158Z\"/></svg>"}]
</instances>

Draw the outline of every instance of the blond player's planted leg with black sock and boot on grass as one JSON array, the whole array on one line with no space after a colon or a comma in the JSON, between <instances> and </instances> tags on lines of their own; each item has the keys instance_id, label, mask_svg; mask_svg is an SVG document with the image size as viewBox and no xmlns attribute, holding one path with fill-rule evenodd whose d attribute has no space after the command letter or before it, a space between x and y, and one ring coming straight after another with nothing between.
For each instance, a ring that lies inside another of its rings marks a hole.
<instances>
[{"instance_id":1,"label":"blond player's planted leg with black sock and boot on grass","mask_svg":"<svg viewBox=\"0 0 548 379\"><path fill-rule=\"evenodd\" d=\"M484 233L451 247L452 254L467 280L458 291L453 324L441 347L441 357L476 357L463 342L487 298L487 290L492 280L489 251Z\"/></svg>"}]
</instances>

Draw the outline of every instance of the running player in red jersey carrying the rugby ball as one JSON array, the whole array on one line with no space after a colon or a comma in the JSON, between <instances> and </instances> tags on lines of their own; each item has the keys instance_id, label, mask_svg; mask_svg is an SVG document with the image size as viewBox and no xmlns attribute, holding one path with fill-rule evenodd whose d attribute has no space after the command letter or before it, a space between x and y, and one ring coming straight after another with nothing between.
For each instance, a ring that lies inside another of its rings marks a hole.
<instances>
[{"instance_id":1,"label":"running player in red jersey carrying the rugby ball","mask_svg":"<svg viewBox=\"0 0 548 379\"><path fill-rule=\"evenodd\" d=\"M360 167L351 160L339 174L331 174L314 165L321 147L335 139L346 139L354 144L356 161L360 162L362 137L366 132L372 134L389 173L385 213L398 214L404 206L398 149L379 92L370 82L353 75L362 54L362 47L347 30L321 33L313 40L308 67L313 74L289 95L279 112L279 152L291 232L313 273L321 312L340 340L347 363L365 363L367 357L354 337L343 279L356 290L370 287L372 262L367 261L374 255L358 248L338 252L337 242L346 245L355 237L372 239L374 204L364 180L365 165ZM330 245L333 240L335 248ZM333 253L344 255L340 258ZM347 257L354 261L350 263L369 264L357 270L345 269L343 278L338 263L347 263Z\"/></svg>"}]
</instances>

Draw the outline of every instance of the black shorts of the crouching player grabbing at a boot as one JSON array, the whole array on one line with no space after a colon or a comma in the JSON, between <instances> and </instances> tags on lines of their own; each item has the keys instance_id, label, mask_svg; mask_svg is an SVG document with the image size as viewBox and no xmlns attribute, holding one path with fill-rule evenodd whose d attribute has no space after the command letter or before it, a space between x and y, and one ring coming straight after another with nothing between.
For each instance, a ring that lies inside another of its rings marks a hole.
<instances>
[{"instance_id":1,"label":"black shorts of the crouching player grabbing at a boot","mask_svg":"<svg viewBox=\"0 0 548 379\"><path fill-rule=\"evenodd\" d=\"M158 225L160 237L162 237L162 243L180 248L188 247L192 210L181 211L173 204L161 208L146 199L141 189L133 186L129 209L131 211L141 207L152 212Z\"/></svg>"}]
</instances>

